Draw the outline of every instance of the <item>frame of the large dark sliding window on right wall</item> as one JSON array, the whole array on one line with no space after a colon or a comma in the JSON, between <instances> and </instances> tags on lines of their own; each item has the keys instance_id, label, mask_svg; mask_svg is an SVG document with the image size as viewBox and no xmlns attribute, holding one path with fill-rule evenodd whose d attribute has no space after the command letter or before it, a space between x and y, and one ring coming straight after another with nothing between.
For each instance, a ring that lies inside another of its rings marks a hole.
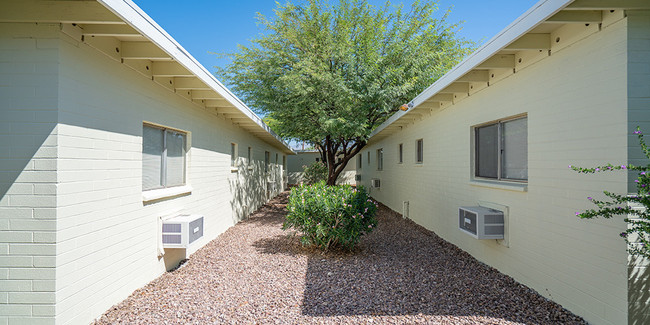
<instances>
[{"instance_id":1,"label":"frame of the large dark sliding window on right wall","mask_svg":"<svg viewBox=\"0 0 650 325\"><path fill-rule=\"evenodd\" d=\"M522 120L522 119L528 119L527 114L523 115L516 115L516 116L511 116L511 117L506 117L482 124L478 124L472 127L472 132L473 132L473 147L472 148L472 155L473 155L473 172L472 172L472 178L476 180L486 180L486 181L497 181L497 182L513 182L513 183L521 183L521 184L527 184L528 183L528 164L526 164L526 179L517 179L517 178L505 178L503 177L503 154L505 152L504 148L504 143L503 143L503 126L508 123L508 122L513 122L516 120ZM526 121L526 137L528 137L528 121ZM497 125L497 176L496 177L487 177L487 176L480 176L478 175L478 168L479 168L479 162L478 162L478 150L479 150L479 139L478 139L478 129L492 126L492 125ZM528 155L528 142L526 142L526 155ZM528 161L526 161L528 163Z\"/></svg>"}]
</instances>

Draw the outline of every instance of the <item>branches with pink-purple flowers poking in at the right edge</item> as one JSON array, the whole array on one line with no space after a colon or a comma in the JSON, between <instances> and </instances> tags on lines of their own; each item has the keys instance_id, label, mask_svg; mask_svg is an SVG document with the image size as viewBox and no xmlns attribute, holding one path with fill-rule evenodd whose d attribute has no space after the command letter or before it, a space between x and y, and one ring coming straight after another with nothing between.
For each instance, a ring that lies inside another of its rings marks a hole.
<instances>
[{"instance_id":1,"label":"branches with pink-purple flowers poking in at the right edge","mask_svg":"<svg viewBox=\"0 0 650 325\"><path fill-rule=\"evenodd\" d=\"M637 127L634 132L639 137L639 143L645 156L650 159L650 150L643 140L643 133ZM630 170L638 171L639 177L634 181L637 185L637 195L620 195L608 191L604 191L605 195L609 197L610 201L595 200L588 197L598 208L590 209L585 212L576 212L576 216L584 219L591 219L596 217L612 218L617 215L635 215L634 218L625 218L628 224L628 229L620 234L627 243L628 252L632 255L643 256L650 258L650 164L648 166L634 166L634 165L620 165L614 166L607 164L605 166L598 166L594 168L581 168L569 165L569 168L584 174L593 174L597 172L609 172L614 170ZM638 210L632 206L643 207L644 209Z\"/></svg>"}]
</instances>

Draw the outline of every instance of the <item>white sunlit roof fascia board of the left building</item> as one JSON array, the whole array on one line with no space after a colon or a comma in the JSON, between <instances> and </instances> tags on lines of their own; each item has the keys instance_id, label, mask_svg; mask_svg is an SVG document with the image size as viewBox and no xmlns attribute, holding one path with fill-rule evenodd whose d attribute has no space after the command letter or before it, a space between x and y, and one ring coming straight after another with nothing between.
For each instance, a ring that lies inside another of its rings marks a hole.
<instances>
[{"instance_id":1,"label":"white sunlit roof fascia board of the left building","mask_svg":"<svg viewBox=\"0 0 650 325\"><path fill-rule=\"evenodd\" d=\"M203 65L201 65L189 52L187 52L176 40L160 27L149 15L131 0L97 0L108 10L112 11L127 24L140 32L152 43L167 52L175 61L192 72L197 78L203 81L210 88L214 89L223 98L228 100L244 115L250 118L264 131L277 140L287 153L295 152L284 142L271 128L262 121L244 102L215 78Z\"/></svg>"}]
</instances>

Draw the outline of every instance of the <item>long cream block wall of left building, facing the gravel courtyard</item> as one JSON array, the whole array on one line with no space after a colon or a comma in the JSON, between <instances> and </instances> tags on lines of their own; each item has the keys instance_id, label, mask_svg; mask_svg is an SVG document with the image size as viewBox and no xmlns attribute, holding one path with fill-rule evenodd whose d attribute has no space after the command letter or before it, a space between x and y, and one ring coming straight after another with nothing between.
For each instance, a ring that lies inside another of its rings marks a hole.
<instances>
[{"instance_id":1,"label":"long cream block wall of left building, facing the gravel courtyard","mask_svg":"<svg viewBox=\"0 0 650 325\"><path fill-rule=\"evenodd\" d=\"M283 154L85 44L65 42L60 57L56 319L79 324L165 271L158 217L203 215L204 245L266 201L267 178L282 180ZM143 121L189 133L191 194L143 203ZM253 148L251 168L241 158L231 170L233 142L240 157Z\"/></svg>"}]
</instances>

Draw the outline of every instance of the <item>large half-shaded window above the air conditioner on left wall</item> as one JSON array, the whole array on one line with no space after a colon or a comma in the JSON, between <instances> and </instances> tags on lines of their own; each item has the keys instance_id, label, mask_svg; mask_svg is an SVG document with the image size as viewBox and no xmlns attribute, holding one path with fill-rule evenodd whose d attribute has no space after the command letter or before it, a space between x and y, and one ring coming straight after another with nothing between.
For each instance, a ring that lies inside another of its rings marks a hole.
<instances>
[{"instance_id":1,"label":"large half-shaded window above the air conditioner on left wall","mask_svg":"<svg viewBox=\"0 0 650 325\"><path fill-rule=\"evenodd\" d=\"M143 125L142 190L185 185L187 134Z\"/></svg>"}]
</instances>

